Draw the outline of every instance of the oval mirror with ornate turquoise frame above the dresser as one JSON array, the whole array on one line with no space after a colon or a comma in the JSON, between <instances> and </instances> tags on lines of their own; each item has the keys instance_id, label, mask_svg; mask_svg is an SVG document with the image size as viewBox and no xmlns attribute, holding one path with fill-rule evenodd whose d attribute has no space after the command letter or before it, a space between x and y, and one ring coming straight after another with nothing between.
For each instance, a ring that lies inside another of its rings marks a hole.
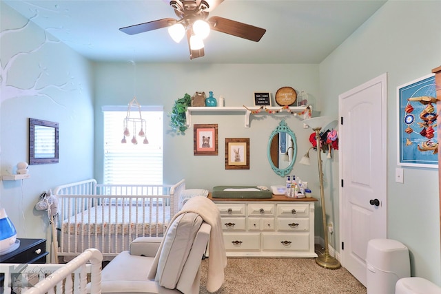
<instances>
[{"instance_id":1,"label":"oval mirror with ornate turquoise frame above the dresser","mask_svg":"<svg viewBox=\"0 0 441 294\"><path fill-rule=\"evenodd\" d=\"M289 129L285 120L282 120L269 136L269 165L279 176L286 176L294 165L296 155L296 135Z\"/></svg>"}]
</instances>

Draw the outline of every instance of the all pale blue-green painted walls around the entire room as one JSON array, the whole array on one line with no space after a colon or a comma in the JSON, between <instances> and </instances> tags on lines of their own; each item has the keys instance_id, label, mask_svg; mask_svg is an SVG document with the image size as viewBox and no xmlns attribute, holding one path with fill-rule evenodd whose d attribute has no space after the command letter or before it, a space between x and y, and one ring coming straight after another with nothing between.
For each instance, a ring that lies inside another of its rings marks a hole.
<instances>
[{"instance_id":1,"label":"all pale blue-green painted walls around the entire room","mask_svg":"<svg viewBox=\"0 0 441 294\"><path fill-rule=\"evenodd\" d=\"M431 72L440 65L440 1L389 1L365 25L353 33L320 65L268 64L137 64L90 63L61 43L48 43L37 52L23 56L10 69L8 84L32 87L41 69L39 85L60 85L69 91L51 88L50 98L26 95L3 101L1 92L0 162L1 174L17 162L27 160L28 117L57 121L61 127L61 160L56 165L31 166L31 178L1 182L0 204L16 224L19 237L45 238L47 222L33 207L42 191L65 182L102 174L103 105L125 105L136 96L141 105L164 105L170 112L174 100L186 92L213 91L225 96L225 105L252 105L252 93L273 94L283 86L305 90L322 114L338 116L338 95L380 74L388 73L388 234L411 250L412 273L441 285L438 172L432 169L405 169L404 184L394 182L396 167L396 86ZM25 19L1 5L1 32L20 28ZM438 14L437 14L438 13ZM43 31L32 25L23 32L2 34L0 38L3 83L4 68L13 54L35 49ZM12 39L11 39L12 38ZM11 41L12 40L12 41ZM44 40L44 39L43 39ZM263 56L264 58L264 56ZM318 113L316 113L318 114ZM218 156L193 156L193 129L185 136L167 132L165 116L164 180L187 180L187 187L211 188L222 184L274 185L283 182L269 168L267 139L282 115L255 116L249 129L243 114L197 114L192 123L217 123ZM286 118L298 142L298 157L292 174L307 180L318 192L317 168L298 160L309 144L309 129L300 120ZM92 127L94 126L94 127ZM250 138L249 170L225 170L225 138ZM324 160L325 189L330 196L327 213L334 219L333 238L338 236L338 152ZM319 208L317 205L316 207ZM318 210L318 209L317 209ZM319 215L319 213L316 213ZM316 219L316 235L322 228ZM337 251L340 240L330 240Z\"/></svg>"}]
</instances>

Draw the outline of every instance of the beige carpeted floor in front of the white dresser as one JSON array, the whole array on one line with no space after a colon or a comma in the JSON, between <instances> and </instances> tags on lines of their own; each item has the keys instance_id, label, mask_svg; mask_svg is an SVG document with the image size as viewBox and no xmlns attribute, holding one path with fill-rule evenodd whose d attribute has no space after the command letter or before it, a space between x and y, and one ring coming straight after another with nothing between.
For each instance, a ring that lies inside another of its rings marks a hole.
<instances>
[{"instance_id":1,"label":"beige carpeted floor in front of the white dresser","mask_svg":"<svg viewBox=\"0 0 441 294\"><path fill-rule=\"evenodd\" d=\"M202 261L200 294L208 259ZM225 282L216 294L366 294L366 288L344 268L324 269L314 258L228 258Z\"/></svg>"}]
</instances>

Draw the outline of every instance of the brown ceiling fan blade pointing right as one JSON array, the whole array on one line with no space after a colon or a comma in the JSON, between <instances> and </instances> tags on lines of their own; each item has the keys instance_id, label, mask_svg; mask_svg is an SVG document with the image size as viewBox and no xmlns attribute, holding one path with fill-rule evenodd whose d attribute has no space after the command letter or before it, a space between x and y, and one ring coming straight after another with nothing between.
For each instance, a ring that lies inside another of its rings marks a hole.
<instances>
[{"instance_id":1,"label":"brown ceiling fan blade pointing right","mask_svg":"<svg viewBox=\"0 0 441 294\"><path fill-rule=\"evenodd\" d=\"M267 30L255 27L254 25L247 25L246 23L239 23L231 19L224 19L223 17L210 17L208 23L212 30L238 36L243 39L248 39L254 42L260 41L263 34Z\"/></svg>"}]
</instances>

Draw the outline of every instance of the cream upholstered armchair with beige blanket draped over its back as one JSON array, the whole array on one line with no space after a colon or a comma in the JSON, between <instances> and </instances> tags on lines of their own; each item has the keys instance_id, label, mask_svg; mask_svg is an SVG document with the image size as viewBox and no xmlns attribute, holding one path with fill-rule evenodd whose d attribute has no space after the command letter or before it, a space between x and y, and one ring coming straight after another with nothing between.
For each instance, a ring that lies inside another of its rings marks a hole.
<instances>
[{"instance_id":1,"label":"cream upholstered armchair with beige blanket draped over its back","mask_svg":"<svg viewBox=\"0 0 441 294\"><path fill-rule=\"evenodd\" d=\"M204 254L209 255L207 290L214 292L227 264L220 215L211 200L194 197L174 216L164 238L136 238L129 251L104 267L101 293L199 293Z\"/></svg>"}]
</instances>

